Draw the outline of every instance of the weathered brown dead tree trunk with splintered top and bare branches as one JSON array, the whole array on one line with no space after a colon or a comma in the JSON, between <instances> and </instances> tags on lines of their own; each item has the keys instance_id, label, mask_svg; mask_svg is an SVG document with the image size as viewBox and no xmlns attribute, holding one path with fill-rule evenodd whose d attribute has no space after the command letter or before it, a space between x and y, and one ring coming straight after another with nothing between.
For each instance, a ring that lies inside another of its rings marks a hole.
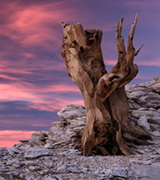
<instances>
[{"instance_id":1,"label":"weathered brown dead tree trunk with splintered top and bare branches","mask_svg":"<svg viewBox=\"0 0 160 180\"><path fill-rule=\"evenodd\" d=\"M101 52L102 30L83 30L81 24L62 23L62 56L69 76L79 87L86 108L86 125L82 134L83 155L133 154L129 146L143 143L149 137L128 117L129 105L124 85L138 73L133 64L138 54L133 46L137 15L132 24L127 49L121 36L123 19L116 24L118 62L110 72L105 70Z\"/></svg>"}]
</instances>

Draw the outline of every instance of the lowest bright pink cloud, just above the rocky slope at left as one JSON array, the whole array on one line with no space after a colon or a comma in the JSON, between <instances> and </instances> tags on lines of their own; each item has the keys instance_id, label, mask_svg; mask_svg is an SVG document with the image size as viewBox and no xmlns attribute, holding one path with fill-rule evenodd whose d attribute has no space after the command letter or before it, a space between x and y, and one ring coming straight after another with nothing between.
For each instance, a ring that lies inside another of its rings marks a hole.
<instances>
[{"instance_id":1,"label":"lowest bright pink cloud, just above the rocky slope at left","mask_svg":"<svg viewBox=\"0 0 160 180\"><path fill-rule=\"evenodd\" d=\"M37 131L2 130L0 131L0 147L18 144L19 139L31 139L31 135L35 132Z\"/></svg>"}]
</instances>

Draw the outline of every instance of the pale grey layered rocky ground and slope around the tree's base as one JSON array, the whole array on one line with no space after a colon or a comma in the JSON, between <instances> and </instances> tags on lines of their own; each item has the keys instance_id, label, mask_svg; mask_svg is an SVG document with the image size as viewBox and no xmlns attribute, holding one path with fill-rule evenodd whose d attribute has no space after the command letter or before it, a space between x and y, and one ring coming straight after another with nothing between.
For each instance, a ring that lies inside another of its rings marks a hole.
<instances>
[{"instance_id":1,"label":"pale grey layered rocky ground and slope around the tree's base","mask_svg":"<svg viewBox=\"0 0 160 180\"><path fill-rule=\"evenodd\" d=\"M132 156L82 156L75 134L85 125L85 108L67 105L49 133L0 149L0 180L159 180L160 79L126 87L130 118L152 134L152 145L135 147Z\"/></svg>"}]
</instances>

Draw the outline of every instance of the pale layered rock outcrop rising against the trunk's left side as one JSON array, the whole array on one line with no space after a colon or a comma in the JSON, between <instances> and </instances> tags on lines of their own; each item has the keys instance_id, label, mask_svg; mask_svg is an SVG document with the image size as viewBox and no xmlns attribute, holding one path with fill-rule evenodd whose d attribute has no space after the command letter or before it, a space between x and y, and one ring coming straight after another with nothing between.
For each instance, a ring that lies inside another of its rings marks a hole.
<instances>
[{"instance_id":1,"label":"pale layered rock outcrop rising against the trunk's left side","mask_svg":"<svg viewBox=\"0 0 160 180\"><path fill-rule=\"evenodd\" d=\"M86 122L85 109L79 105L67 105L57 114L61 118L61 122L52 123L46 141L54 145L56 142L64 144L70 141L71 137L84 128Z\"/></svg>"}]
</instances>

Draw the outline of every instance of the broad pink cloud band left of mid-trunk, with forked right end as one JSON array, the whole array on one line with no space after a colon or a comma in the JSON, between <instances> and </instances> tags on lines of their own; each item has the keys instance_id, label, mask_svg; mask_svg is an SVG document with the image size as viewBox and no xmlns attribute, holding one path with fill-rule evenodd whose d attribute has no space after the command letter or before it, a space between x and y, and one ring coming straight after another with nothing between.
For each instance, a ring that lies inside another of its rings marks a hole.
<instances>
[{"instance_id":1,"label":"broad pink cloud band left of mid-trunk, with forked right end","mask_svg":"<svg viewBox=\"0 0 160 180\"><path fill-rule=\"evenodd\" d=\"M26 101L31 104L22 107L22 109L38 109L41 111L55 111L59 110L63 107L62 104L66 103L80 103L83 104L82 101L77 100L63 100L58 98L58 94L61 93L80 93L80 90L76 85L48 85L45 87L37 88L34 84L30 83L10 83L10 84L0 84L0 100L3 101ZM57 94L53 98L50 93Z\"/></svg>"}]
</instances>

